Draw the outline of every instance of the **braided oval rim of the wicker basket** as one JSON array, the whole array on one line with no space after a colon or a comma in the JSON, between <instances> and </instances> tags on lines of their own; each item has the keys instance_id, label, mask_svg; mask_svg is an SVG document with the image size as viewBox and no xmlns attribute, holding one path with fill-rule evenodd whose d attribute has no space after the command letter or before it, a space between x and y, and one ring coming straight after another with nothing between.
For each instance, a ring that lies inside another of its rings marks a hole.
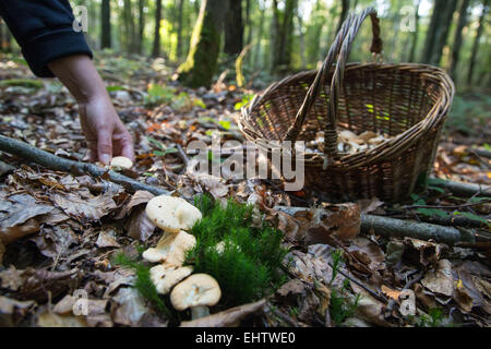
<instances>
[{"instance_id":1,"label":"braided oval rim of the wicker basket","mask_svg":"<svg viewBox=\"0 0 491 349\"><path fill-rule=\"evenodd\" d=\"M427 112L427 115L412 127L406 131L395 135L391 140L386 140L381 144L376 145L372 149L362 151L356 154L340 154L338 160L333 161L330 168L343 168L352 169L360 166L369 166L378 161L382 157L390 157L395 153L404 152L406 148L410 147L415 142L417 142L420 136L434 125L444 121L450 107L452 105L453 97L455 95L455 85L451 76L440 67L434 67L430 64L421 63L359 63L351 62L346 64L346 72L357 70L357 69L390 69L390 70L414 70L421 76L427 75L428 80L435 79L438 84L442 87L440 91L439 99L434 103L432 108ZM332 71L334 67L332 68ZM241 115L238 118L238 125L241 133L249 141L283 141L283 140L266 140L262 134L260 134L256 128L254 128L250 122L250 116L255 110L255 108L271 94L273 94L277 88L291 83L291 81L299 80L306 76L314 77L318 70L309 70L289 75L279 82L271 84L266 89L256 94L248 106L241 108ZM258 142L261 146L261 142ZM270 149L267 149L270 152ZM324 154L323 153L312 153L306 152L306 164L310 167L323 167Z\"/></svg>"}]
</instances>

